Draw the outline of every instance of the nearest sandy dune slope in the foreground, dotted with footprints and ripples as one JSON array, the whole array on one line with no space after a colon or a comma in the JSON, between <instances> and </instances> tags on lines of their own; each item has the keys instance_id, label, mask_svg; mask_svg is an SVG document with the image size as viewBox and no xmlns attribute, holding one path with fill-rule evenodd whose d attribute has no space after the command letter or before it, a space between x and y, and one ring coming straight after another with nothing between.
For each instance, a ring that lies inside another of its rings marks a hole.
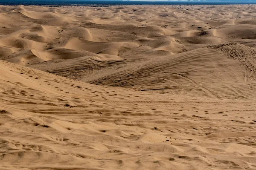
<instances>
[{"instance_id":1,"label":"nearest sandy dune slope in the foreground, dotted with footprints and ripples","mask_svg":"<svg viewBox=\"0 0 256 170\"><path fill-rule=\"evenodd\" d=\"M256 101L240 96L244 84L227 85L237 98L221 100L96 86L3 61L0 71L1 169L255 166Z\"/></svg>"}]
</instances>

